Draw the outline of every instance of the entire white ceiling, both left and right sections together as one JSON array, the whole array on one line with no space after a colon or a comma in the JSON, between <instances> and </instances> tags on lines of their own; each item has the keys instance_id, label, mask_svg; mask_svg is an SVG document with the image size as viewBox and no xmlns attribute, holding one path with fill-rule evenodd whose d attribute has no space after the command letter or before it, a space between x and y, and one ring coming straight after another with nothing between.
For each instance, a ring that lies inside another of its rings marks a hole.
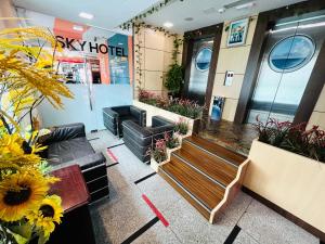
<instances>
[{"instance_id":1,"label":"entire white ceiling, both left and right sections together","mask_svg":"<svg viewBox=\"0 0 325 244\"><path fill-rule=\"evenodd\" d=\"M181 34L304 0L252 0L256 5L251 9L229 9L222 14L218 12L224 4L235 1L237 0L174 0L144 21L155 26L171 22L173 27L170 30ZM13 0L13 2L17 7L64 20L114 29L159 0ZM206 11L209 14L205 13ZM94 18L91 21L81 18L78 16L80 12L91 13ZM186 17L194 20L186 22L184 20Z\"/></svg>"}]
</instances>

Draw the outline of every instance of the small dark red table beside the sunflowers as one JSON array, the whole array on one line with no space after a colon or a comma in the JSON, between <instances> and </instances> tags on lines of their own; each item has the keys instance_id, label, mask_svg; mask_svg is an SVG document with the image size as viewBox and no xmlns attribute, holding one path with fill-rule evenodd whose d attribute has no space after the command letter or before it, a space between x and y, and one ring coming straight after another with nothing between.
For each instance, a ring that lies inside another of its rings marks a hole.
<instances>
[{"instance_id":1,"label":"small dark red table beside the sunflowers","mask_svg":"<svg viewBox=\"0 0 325 244\"><path fill-rule=\"evenodd\" d=\"M95 244L92 222L88 209L90 194L78 165L68 166L52 172L61 178L54 183L50 194L62 198L64 215L48 243L50 244Z\"/></svg>"}]
</instances>

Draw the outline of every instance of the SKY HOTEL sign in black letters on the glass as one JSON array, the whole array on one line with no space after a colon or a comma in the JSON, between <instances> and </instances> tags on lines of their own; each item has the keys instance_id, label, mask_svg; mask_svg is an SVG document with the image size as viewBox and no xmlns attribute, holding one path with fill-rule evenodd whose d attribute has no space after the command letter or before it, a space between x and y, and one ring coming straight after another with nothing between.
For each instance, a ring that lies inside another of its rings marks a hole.
<instances>
[{"instance_id":1,"label":"SKY HOTEL sign in black letters on the glass","mask_svg":"<svg viewBox=\"0 0 325 244\"><path fill-rule=\"evenodd\" d=\"M67 38L63 36L56 36L56 40L61 43L62 48L69 49L72 51L82 51L82 52L92 52L92 53L102 53L114 55L114 56L128 56L126 51L121 47L114 47L110 44L96 43L86 40L77 40L74 38Z\"/></svg>"}]
</instances>

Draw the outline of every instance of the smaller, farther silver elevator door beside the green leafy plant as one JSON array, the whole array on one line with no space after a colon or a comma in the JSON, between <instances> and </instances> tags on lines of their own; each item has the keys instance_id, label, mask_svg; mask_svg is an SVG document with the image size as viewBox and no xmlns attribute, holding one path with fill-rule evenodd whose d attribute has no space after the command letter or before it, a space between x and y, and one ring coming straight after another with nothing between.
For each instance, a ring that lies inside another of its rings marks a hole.
<instances>
[{"instance_id":1,"label":"smaller, farther silver elevator door beside the green leafy plant","mask_svg":"<svg viewBox=\"0 0 325 244\"><path fill-rule=\"evenodd\" d=\"M212 47L213 38L197 40L193 46L187 98L199 104L205 103Z\"/></svg>"}]
</instances>

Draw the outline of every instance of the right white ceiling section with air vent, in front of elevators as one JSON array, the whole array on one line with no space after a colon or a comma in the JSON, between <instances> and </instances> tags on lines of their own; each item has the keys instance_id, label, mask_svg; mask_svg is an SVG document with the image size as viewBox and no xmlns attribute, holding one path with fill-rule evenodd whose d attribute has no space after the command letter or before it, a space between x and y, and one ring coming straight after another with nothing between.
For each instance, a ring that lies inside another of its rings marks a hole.
<instances>
[{"instance_id":1,"label":"right white ceiling section with air vent, in front of elevators","mask_svg":"<svg viewBox=\"0 0 325 244\"><path fill-rule=\"evenodd\" d=\"M251 9L229 9L222 14L218 12L224 4L235 1L237 0L177 0L159 12L150 15L145 18L145 22L156 26L162 26L165 22L171 22L173 23L173 27L170 28L171 31L184 33L306 0L252 0L256 5ZM206 14L205 10L210 13ZM193 17L194 20L186 22L184 21L186 17Z\"/></svg>"}]
</instances>

